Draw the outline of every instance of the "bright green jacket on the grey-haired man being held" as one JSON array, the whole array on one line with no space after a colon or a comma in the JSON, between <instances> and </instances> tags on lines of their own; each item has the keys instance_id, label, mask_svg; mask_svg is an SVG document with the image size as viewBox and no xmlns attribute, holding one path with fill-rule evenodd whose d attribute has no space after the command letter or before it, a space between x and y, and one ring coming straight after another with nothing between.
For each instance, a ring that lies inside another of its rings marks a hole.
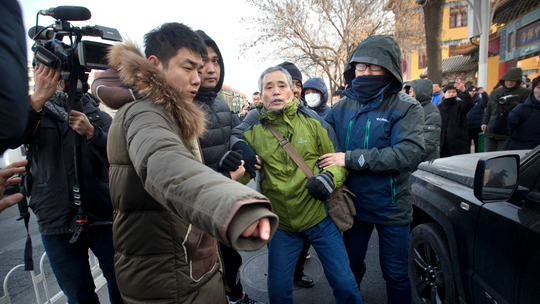
<instances>
[{"instance_id":1,"label":"bright green jacket on the grey-haired man being held","mask_svg":"<svg viewBox=\"0 0 540 304\"><path fill-rule=\"evenodd\" d=\"M262 193L279 216L278 228L292 232L311 228L326 218L325 205L308 194L308 179L265 124L272 124L289 139L314 174L320 172L317 161L321 155L339 152L334 130L317 113L299 106L296 98L279 111L267 111L260 103L257 113L259 120L244 131L243 138L263 160ZM340 166L330 166L325 171L334 176L334 189L343 184L348 174Z\"/></svg>"}]
</instances>

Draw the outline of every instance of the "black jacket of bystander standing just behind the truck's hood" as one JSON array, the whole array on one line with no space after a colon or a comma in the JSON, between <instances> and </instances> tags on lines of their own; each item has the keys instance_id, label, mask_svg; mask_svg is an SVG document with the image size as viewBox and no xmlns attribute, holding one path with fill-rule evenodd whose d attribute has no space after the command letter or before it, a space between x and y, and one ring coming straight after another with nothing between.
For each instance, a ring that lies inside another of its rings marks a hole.
<instances>
[{"instance_id":1,"label":"black jacket of bystander standing just behind the truck's hood","mask_svg":"<svg viewBox=\"0 0 540 304\"><path fill-rule=\"evenodd\" d=\"M464 93L463 97L464 100L457 97L443 98L438 105L442 120L440 148L442 151L447 140L450 155L471 152L467 112L472 109L474 102L469 92Z\"/></svg>"}]
</instances>

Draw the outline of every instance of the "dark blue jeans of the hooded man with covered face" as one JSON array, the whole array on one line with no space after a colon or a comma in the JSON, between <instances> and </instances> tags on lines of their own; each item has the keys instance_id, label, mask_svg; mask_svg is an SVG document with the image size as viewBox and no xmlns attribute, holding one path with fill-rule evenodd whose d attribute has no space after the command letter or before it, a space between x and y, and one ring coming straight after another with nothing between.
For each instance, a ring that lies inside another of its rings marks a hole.
<instances>
[{"instance_id":1,"label":"dark blue jeans of the hooded man with covered face","mask_svg":"<svg viewBox=\"0 0 540 304\"><path fill-rule=\"evenodd\" d=\"M377 227L379 233L379 260L386 281L388 303L411 303L408 273L409 225L386 226L355 220L353 227L343 233L343 240L356 280L360 283L366 271L364 259L374 227Z\"/></svg>"}]
</instances>

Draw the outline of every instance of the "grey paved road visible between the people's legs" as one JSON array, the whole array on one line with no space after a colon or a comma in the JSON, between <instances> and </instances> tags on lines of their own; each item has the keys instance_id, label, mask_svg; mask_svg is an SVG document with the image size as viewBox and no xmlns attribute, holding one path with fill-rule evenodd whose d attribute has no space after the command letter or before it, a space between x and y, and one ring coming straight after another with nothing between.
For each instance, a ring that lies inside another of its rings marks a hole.
<instances>
[{"instance_id":1,"label":"grey paved road visible between the people's legs","mask_svg":"<svg viewBox=\"0 0 540 304\"><path fill-rule=\"evenodd\" d=\"M26 229L22 222L17 222L19 213L16 206L5 210L0 214L0 279L3 281L6 274L18 264L23 262L23 248L26 240ZM34 251L34 262L36 273L39 274L39 259L44 252L41 237L38 232L36 217L32 214L30 223L30 234L32 237L32 247ZM315 280L315 287L309 289L296 288L294 291L295 304L331 304L335 303L332 289L328 285L322 267L317 257L316 251L311 248L312 258L306 261L306 273ZM240 269L240 276L244 284L244 291L251 298L263 303L269 303L266 292L266 247L256 252L242 252L244 265ZM366 304L386 303L386 287L382 279L379 258L378 240L374 232L369 244L369 251L366 257L368 269L362 282L360 293ZM58 285L48 261L44 267L45 275L52 295L59 292ZM0 289L2 287L0 286ZM13 304L36 303L34 289L30 275L17 270L9 280L8 289ZM40 288L42 295L43 289ZM0 297L4 293L0 293ZM98 291L101 303L109 304L107 288L103 287ZM44 296L42 296L42 301Z\"/></svg>"}]
</instances>

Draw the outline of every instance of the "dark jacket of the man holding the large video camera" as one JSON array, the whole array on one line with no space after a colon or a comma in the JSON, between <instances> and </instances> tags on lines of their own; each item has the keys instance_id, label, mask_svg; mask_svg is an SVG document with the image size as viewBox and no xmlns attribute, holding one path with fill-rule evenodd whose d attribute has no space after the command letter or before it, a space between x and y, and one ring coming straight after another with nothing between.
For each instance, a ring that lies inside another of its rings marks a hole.
<instances>
[{"instance_id":1,"label":"dark jacket of the man holding the large video camera","mask_svg":"<svg viewBox=\"0 0 540 304\"><path fill-rule=\"evenodd\" d=\"M84 113L95 129L94 136L90 140L83 139L81 144L83 206L90 224L112 224L107 160L107 133L112 119L93 99L83 98L83 102ZM67 122L48 108L36 112L29 107L24 143L32 144L34 154L30 208L36 214L41 234L72 233L76 227L77 209L72 207L75 184L73 132L69 130Z\"/></svg>"}]
</instances>

